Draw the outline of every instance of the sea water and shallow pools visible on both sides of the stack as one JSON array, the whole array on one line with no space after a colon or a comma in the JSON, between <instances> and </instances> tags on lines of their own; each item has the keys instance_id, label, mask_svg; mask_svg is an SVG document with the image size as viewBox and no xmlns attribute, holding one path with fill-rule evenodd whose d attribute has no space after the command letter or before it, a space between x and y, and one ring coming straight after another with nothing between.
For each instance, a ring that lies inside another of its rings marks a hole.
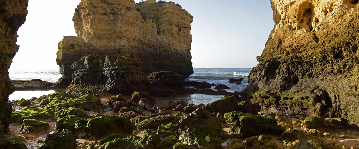
<instances>
[{"instance_id":1,"label":"sea water and shallow pools visible on both sides of the stack","mask_svg":"<svg viewBox=\"0 0 359 149\"><path fill-rule=\"evenodd\" d=\"M226 89L228 92L233 91L242 91L248 85L247 76L250 73L251 68L194 68L194 73L188 77L187 81L206 81L208 83L224 84L227 85L230 89ZM17 70L10 69L9 77L11 80L31 80L31 79L41 79L43 81L49 81L56 83L57 80L61 77L59 69L32 69L32 70ZM230 78L243 78L242 84L231 84L229 83ZM215 86L212 86L214 89ZM55 93L55 91L65 91L64 89L60 90L41 90L41 91L15 91L9 96L9 100L19 100L19 99L30 99L32 97L39 98L42 95L47 95ZM205 95L205 94L191 94L191 95L181 95L177 96L174 99L156 97L157 103L159 105L167 104L168 100L183 100L187 103L193 104L207 104L212 101L218 100L223 95L214 96L214 95Z\"/></svg>"}]
</instances>

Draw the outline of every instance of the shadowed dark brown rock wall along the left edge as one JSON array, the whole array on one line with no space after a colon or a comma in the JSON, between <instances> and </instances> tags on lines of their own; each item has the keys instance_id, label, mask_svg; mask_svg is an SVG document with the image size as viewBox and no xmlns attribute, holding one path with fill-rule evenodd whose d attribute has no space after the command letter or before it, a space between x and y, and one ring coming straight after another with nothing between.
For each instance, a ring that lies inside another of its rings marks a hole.
<instances>
[{"instance_id":1,"label":"shadowed dark brown rock wall along the left edge","mask_svg":"<svg viewBox=\"0 0 359 149\"><path fill-rule=\"evenodd\" d=\"M5 133L9 130L12 111L6 101L15 91L8 70L15 53L19 50L16 32L26 20L27 5L28 0L0 0L0 132Z\"/></svg>"}]
</instances>

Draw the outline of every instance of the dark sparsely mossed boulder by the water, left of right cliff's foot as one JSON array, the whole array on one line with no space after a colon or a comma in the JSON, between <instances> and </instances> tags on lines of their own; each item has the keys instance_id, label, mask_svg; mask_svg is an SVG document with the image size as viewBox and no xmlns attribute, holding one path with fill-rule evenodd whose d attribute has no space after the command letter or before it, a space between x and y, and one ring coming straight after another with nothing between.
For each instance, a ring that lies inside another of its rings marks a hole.
<instances>
[{"instance_id":1,"label":"dark sparsely mossed boulder by the water, left of right cliff's foot","mask_svg":"<svg viewBox=\"0 0 359 149\"><path fill-rule=\"evenodd\" d=\"M238 101L234 98L234 96L225 96L219 100L206 104L203 109L208 110L210 113L224 114L236 110L237 105Z\"/></svg>"}]
</instances>

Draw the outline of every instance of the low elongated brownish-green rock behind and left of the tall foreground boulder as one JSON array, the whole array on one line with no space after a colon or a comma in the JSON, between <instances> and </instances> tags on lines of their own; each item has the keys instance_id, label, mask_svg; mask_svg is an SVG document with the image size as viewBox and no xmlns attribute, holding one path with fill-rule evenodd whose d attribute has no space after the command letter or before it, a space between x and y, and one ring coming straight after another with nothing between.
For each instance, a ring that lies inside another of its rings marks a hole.
<instances>
[{"instance_id":1,"label":"low elongated brownish-green rock behind and left of the tall foreground boulder","mask_svg":"<svg viewBox=\"0 0 359 149\"><path fill-rule=\"evenodd\" d=\"M159 115L159 116L141 121L139 124L137 124L137 129L138 130L145 130L145 129L157 130L158 126L160 126L162 124L168 124L168 123L177 124L178 121L180 121L180 118L178 118L178 117L174 117L171 115Z\"/></svg>"}]
</instances>

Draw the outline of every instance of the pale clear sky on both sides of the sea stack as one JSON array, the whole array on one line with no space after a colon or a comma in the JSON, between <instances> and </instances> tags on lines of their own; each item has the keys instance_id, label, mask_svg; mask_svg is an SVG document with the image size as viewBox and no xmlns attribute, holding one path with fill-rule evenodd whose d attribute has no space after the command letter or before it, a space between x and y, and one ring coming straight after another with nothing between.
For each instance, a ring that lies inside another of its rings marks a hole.
<instances>
[{"instance_id":1,"label":"pale clear sky on both sides of the sea stack","mask_svg":"<svg viewBox=\"0 0 359 149\"><path fill-rule=\"evenodd\" d=\"M135 0L138 3L140 0ZM252 68L274 27L269 0L172 0L193 17L194 68ZM75 34L72 17L80 0L29 0L10 70L59 69L57 44Z\"/></svg>"}]
</instances>

